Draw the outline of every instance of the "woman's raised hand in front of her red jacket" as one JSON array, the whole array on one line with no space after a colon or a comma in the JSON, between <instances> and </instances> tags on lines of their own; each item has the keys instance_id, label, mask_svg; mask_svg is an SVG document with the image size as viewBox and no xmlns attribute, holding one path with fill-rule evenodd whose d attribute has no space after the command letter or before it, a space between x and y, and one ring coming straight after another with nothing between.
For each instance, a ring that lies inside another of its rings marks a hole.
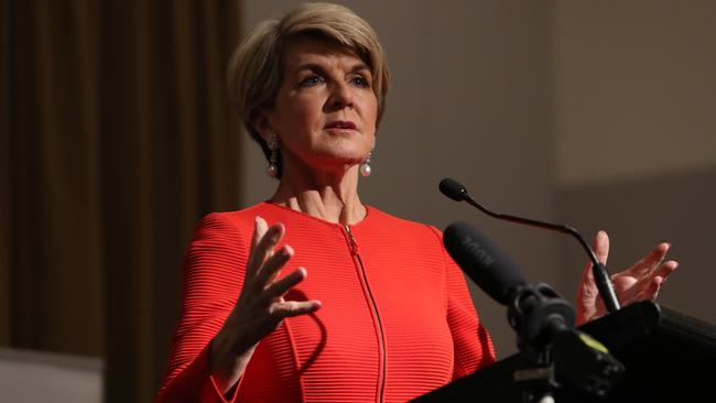
<instances>
[{"instance_id":1,"label":"woman's raised hand in front of her red jacket","mask_svg":"<svg viewBox=\"0 0 716 403\"><path fill-rule=\"evenodd\" d=\"M288 244L275 253L273 251L284 233L282 224L269 228L265 220L257 216L243 288L209 349L209 370L223 393L234 388L259 341L275 330L284 318L321 308L318 301L283 298L289 290L306 276L306 270L297 268L276 280L281 268L293 255L293 249Z\"/></svg>"}]
</instances>

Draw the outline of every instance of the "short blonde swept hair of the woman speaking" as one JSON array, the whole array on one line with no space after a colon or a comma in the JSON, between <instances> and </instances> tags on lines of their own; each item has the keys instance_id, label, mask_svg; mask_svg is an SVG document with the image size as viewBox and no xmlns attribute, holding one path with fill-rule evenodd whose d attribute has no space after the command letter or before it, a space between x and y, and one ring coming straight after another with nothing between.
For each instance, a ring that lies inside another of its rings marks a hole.
<instances>
[{"instance_id":1,"label":"short blonde swept hair of the woman speaking","mask_svg":"<svg viewBox=\"0 0 716 403\"><path fill-rule=\"evenodd\" d=\"M257 113L273 107L281 87L285 46L291 39L316 35L355 52L368 65L378 98L378 122L386 108L390 81L386 55L376 31L350 9L330 3L306 3L281 20L258 24L234 51L228 65L229 95L249 134L269 157L265 141L253 127Z\"/></svg>"}]
</instances>

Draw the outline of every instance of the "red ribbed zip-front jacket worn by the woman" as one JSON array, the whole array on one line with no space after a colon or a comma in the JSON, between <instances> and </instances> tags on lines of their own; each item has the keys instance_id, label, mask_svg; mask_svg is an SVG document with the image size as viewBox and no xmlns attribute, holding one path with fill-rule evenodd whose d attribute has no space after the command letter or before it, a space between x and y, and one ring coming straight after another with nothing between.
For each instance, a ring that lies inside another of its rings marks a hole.
<instances>
[{"instance_id":1,"label":"red ribbed zip-front jacket worn by the woman","mask_svg":"<svg viewBox=\"0 0 716 403\"><path fill-rule=\"evenodd\" d=\"M283 242L295 254L284 274L308 271L286 299L323 307L267 336L227 400L208 373L206 348L241 290L257 215L286 227ZM183 274L156 402L404 402L495 361L440 231L372 207L348 229L270 203L208 215Z\"/></svg>"}]
</instances>

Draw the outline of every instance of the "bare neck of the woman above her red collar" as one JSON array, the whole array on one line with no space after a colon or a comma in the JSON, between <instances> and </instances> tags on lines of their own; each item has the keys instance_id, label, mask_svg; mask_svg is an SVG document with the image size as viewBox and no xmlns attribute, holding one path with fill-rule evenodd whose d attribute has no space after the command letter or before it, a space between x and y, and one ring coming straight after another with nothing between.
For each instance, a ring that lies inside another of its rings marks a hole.
<instances>
[{"instance_id":1,"label":"bare neck of the woman above her red collar","mask_svg":"<svg viewBox=\"0 0 716 403\"><path fill-rule=\"evenodd\" d=\"M328 222L352 225L366 217L358 197L358 166L339 174L283 172L272 202Z\"/></svg>"}]
</instances>

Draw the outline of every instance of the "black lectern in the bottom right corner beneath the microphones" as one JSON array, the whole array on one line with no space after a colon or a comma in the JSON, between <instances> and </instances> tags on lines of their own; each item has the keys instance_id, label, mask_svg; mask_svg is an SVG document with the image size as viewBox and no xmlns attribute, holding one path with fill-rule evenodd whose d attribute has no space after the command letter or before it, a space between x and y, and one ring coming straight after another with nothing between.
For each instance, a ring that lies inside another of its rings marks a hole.
<instances>
[{"instance_id":1,"label":"black lectern in the bottom right corner beneath the microphones","mask_svg":"<svg viewBox=\"0 0 716 403\"><path fill-rule=\"evenodd\" d=\"M606 397L560 382L561 402L716 402L716 325L644 301L588 323L626 371ZM427 393L415 402L538 402L544 382L521 355Z\"/></svg>"}]
</instances>

